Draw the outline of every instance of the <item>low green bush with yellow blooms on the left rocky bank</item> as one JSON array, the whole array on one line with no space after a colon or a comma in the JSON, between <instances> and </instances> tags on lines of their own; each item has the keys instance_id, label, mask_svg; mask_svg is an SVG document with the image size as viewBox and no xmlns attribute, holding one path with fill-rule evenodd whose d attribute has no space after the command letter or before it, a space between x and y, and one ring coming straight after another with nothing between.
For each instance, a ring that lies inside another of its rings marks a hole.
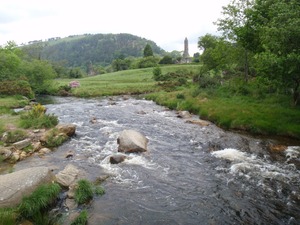
<instances>
[{"instance_id":1,"label":"low green bush with yellow blooms on the left rocky bank","mask_svg":"<svg viewBox=\"0 0 300 225\"><path fill-rule=\"evenodd\" d=\"M58 118L55 115L45 114L46 108L40 104L21 115L20 126L23 128L51 128L58 124Z\"/></svg>"}]
</instances>

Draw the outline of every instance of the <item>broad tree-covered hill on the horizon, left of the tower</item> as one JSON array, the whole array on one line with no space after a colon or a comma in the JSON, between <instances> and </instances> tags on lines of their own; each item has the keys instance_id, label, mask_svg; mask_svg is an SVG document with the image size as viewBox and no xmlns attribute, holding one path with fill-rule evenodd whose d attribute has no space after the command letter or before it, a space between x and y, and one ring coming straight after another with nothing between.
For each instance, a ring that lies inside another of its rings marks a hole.
<instances>
[{"instance_id":1,"label":"broad tree-covered hill on the horizon, left of the tower","mask_svg":"<svg viewBox=\"0 0 300 225\"><path fill-rule=\"evenodd\" d=\"M86 66L90 63L106 66L118 57L142 56L147 43L154 54L161 55L165 52L153 41L124 33L49 38L45 42L31 42L24 49L42 59L64 61L67 66Z\"/></svg>"}]
</instances>

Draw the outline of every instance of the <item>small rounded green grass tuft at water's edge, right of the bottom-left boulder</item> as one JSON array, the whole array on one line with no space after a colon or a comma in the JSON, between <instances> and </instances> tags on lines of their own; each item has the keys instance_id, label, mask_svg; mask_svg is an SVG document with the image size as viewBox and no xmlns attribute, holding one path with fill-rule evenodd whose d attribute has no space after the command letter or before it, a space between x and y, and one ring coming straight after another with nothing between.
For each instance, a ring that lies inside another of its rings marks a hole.
<instances>
[{"instance_id":1,"label":"small rounded green grass tuft at water's edge, right of the bottom-left boulder","mask_svg":"<svg viewBox=\"0 0 300 225\"><path fill-rule=\"evenodd\" d=\"M77 185L74 198L78 204L88 203L93 199L93 185L88 180L79 180Z\"/></svg>"}]
</instances>

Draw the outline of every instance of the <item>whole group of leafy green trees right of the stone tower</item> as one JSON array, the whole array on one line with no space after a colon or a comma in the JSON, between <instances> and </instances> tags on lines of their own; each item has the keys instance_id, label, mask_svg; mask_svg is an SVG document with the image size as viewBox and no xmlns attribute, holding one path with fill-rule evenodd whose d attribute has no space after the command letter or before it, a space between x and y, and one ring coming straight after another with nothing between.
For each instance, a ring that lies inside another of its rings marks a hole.
<instances>
[{"instance_id":1,"label":"whole group of leafy green trees right of the stone tower","mask_svg":"<svg viewBox=\"0 0 300 225\"><path fill-rule=\"evenodd\" d=\"M298 0L233 0L216 25L222 36L199 38L200 78L243 77L245 86L255 81L268 92L290 94L293 104L299 104Z\"/></svg>"}]
</instances>

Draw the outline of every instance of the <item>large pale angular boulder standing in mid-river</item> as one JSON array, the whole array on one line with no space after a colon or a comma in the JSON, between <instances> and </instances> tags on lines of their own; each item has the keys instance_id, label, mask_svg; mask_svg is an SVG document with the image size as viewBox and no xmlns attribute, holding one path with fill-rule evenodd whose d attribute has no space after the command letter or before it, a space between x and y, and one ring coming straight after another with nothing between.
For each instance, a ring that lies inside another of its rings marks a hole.
<instances>
[{"instance_id":1,"label":"large pale angular boulder standing in mid-river","mask_svg":"<svg viewBox=\"0 0 300 225\"><path fill-rule=\"evenodd\" d=\"M117 140L119 152L145 152L147 151L148 139L135 130L124 130Z\"/></svg>"}]
</instances>

